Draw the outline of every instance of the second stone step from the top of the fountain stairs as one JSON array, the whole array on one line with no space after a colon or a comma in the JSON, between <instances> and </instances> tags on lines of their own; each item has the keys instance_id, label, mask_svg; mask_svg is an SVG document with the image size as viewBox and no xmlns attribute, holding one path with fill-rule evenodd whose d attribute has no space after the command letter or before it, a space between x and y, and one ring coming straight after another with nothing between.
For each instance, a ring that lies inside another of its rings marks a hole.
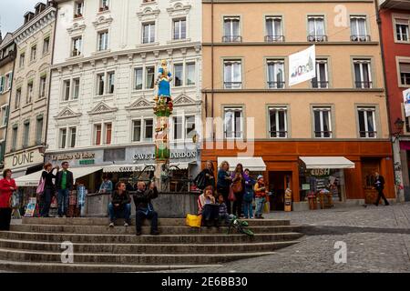
<instances>
[{"instance_id":1,"label":"second stone step from the top of the fountain stairs","mask_svg":"<svg viewBox=\"0 0 410 291\"><path fill-rule=\"evenodd\" d=\"M255 234L300 232L302 226L250 226ZM71 234L119 234L135 235L135 226L60 226L60 225L13 225L12 231L39 232L39 233L71 233ZM150 226L143 226L143 233L149 234ZM188 235L188 234L227 234L228 227L188 227L188 226L159 226L159 232L164 235ZM235 233L235 229L231 229Z\"/></svg>"}]
</instances>

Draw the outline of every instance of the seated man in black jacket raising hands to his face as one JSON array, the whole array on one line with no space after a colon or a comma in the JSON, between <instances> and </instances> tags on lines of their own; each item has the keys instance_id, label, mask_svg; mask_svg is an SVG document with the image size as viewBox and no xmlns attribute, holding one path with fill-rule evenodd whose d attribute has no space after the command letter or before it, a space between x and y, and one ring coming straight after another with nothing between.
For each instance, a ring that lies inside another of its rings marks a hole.
<instances>
[{"instance_id":1,"label":"seated man in black jacket raising hands to his face","mask_svg":"<svg viewBox=\"0 0 410 291\"><path fill-rule=\"evenodd\" d=\"M134 203L136 209L136 228L137 236L141 235L142 223L145 218L151 219L151 235L159 235L158 231L158 213L154 211L151 199L158 197L158 190L154 182L151 182L149 189L146 189L144 182L138 182L137 192L134 194Z\"/></svg>"}]
</instances>

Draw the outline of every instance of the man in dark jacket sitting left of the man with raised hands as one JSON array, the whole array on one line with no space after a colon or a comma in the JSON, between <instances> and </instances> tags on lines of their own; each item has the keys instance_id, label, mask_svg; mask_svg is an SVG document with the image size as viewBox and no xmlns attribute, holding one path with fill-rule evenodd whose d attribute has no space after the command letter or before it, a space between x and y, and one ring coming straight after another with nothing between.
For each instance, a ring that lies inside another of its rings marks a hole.
<instances>
[{"instance_id":1,"label":"man in dark jacket sitting left of the man with raised hands","mask_svg":"<svg viewBox=\"0 0 410 291\"><path fill-rule=\"evenodd\" d=\"M129 226L129 216L131 216L131 198L126 190L124 182L118 182L116 190L111 195L111 203L108 204L108 213L110 219L110 227L115 224L116 218L123 217L125 219L124 226Z\"/></svg>"}]
</instances>

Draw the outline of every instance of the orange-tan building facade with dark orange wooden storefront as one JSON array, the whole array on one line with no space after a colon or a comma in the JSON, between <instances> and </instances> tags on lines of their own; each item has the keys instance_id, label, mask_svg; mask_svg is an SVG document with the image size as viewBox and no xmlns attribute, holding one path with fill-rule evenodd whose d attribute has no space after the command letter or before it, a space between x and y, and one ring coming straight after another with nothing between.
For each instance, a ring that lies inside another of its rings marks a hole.
<instances>
[{"instance_id":1,"label":"orange-tan building facade with dark orange wooden storefront","mask_svg":"<svg viewBox=\"0 0 410 291\"><path fill-rule=\"evenodd\" d=\"M203 0L202 9L203 120L214 120L202 162L255 157L237 161L268 181L272 209L283 209L287 187L293 209L325 187L333 202L374 203L375 171L395 198L373 0ZM290 86L289 55L310 45L316 77Z\"/></svg>"}]
</instances>

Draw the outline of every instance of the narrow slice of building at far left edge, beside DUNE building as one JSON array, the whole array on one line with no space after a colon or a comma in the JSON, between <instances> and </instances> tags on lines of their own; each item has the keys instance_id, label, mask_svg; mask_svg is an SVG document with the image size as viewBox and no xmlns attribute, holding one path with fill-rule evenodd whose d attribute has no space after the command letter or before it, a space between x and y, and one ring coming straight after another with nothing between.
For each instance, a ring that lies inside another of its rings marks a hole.
<instances>
[{"instance_id":1,"label":"narrow slice of building at far left edge, beside DUNE building","mask_svg":"<svg viewBox=\"0 0 410 291\"><path fill-rule=\"evenodd\" d=\"M0 33L1 35L1 33ZM8 122L9 100L13 85L13 70L15 65L15 41L8 33L5 38L0 36L0 170L4 168L5 137Z\"/></svg>"}]
</instances>

